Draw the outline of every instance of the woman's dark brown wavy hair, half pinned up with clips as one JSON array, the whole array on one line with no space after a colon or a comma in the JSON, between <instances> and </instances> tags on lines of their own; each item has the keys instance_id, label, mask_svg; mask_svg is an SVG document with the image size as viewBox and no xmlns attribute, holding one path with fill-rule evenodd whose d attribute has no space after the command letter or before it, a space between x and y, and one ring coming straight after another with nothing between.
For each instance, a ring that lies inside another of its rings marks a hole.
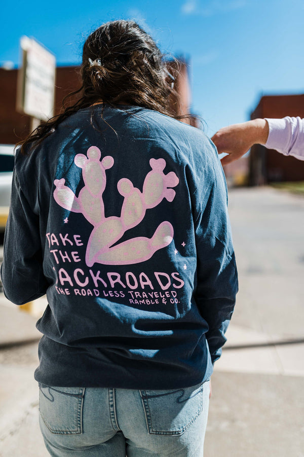
<instances>
[{"instance_id":1,"label":"woman's dark brown wavy hair, half pinned up with clips","mask_svg":"<svg viewBox=\"0 0 304 457\"><path fill-rule=\"evenodd\" d=\"M17 145L26 154L27 146L30 150L33 142L40 144L64 119L100 101L111 106L132 104L183 118L172 87L178 71L175 60L168 73L164 55L136 22L107 22L92 32L84 44L81 87L64 97L60 114L41 122ZM75 100L75 96L78 100L65 106L66 100Z\"/></svg>"}]
</instances>

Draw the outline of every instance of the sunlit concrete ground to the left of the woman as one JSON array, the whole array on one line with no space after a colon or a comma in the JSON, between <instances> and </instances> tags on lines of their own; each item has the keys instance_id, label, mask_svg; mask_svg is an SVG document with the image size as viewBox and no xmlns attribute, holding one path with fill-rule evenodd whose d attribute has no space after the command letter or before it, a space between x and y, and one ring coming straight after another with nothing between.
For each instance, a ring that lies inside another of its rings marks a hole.
<instances>
[{"instance_id":1,"label":"sunlit concrete ground to the left of the woman","mask_svg":"<svg viewBox=\"0 0 304 457\"><path fill-rule=\"evenodd\" d=\"M0 456L47 457L39 430L36 318L0 296ZM36 341L19 345L26 341ZM10 345L17 346L12 349ZM4 348L5 347L5 348Z\"/></svg>"}]
</instances>

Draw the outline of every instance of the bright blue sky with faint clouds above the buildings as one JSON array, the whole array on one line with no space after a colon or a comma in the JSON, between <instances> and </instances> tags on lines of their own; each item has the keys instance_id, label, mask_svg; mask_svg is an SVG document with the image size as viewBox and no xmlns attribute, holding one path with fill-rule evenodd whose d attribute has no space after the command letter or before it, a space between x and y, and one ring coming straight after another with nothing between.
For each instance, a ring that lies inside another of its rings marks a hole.
<instances>
[{"instance_id":1,"label":"bright blue sky with faint clouds above the buildings","mask_svg":"<svg viewBox=\"0 0 304 457\"><path fill-rule=\"evenodd\" d=\"M262 94L304 93L303 0L16 1L2 7L0 62L34 37L58 64L81 61L97 26L135 19L163 52L189 58L192 111L218 128L249 118Z\"/></svg>"}]
</instances>

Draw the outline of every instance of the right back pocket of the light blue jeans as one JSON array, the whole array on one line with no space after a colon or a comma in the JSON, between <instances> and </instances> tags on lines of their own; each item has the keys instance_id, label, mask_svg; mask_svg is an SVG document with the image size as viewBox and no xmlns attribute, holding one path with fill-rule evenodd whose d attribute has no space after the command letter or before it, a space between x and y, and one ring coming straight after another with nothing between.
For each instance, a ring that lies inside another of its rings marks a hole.
<instances>
[{"instance_id":1,"label":"right back pocket of the light blue jeans","mask_svg":"<svg viewBox=\"0 0 304 457\"><path fill-rule=\"evenodd\" d=\"M203 383L171 391L140 391L148 433L182 435L203 409Z\"/></svg>"}]
</instances>

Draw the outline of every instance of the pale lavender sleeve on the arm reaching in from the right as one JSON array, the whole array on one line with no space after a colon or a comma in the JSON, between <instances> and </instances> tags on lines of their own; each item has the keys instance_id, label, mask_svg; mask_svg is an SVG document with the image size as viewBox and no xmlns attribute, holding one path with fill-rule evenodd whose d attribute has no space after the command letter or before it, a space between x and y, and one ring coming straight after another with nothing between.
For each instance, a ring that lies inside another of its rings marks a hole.
<instances>
[{"instance_id":1,"label":"pale lavender sleeve on the arm reaching in from the right","mask_svg":"<svg viewBox=\"0 0 304 457\"><path fill-rule=\"evenodd\" d=\"M269 135L265 147L304 160L304 119L286 116L268 119Z\"/></svg>"}]
</instances>

